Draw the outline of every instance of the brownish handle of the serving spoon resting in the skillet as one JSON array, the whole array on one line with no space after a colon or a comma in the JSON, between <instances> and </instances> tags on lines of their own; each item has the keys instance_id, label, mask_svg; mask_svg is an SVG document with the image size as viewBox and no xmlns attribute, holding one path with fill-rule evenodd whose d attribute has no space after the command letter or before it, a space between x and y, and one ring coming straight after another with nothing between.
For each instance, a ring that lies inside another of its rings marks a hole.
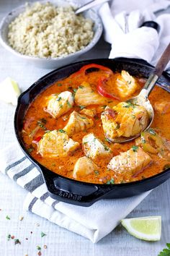
<instances>
[{"instance_id":1,"label":"brownish handle of the serving spoon resting in the skillet","mask_svg":"<svg viewBox=\"0 0 170 256\"><path fill-rule=\"evenodd\" d=\"M147 90L147 95L150 95L151 91L153 90L153 87L155 86L158 78L161 77L161 74L164 71L169 60L170 60L170 43L166 47L166 50L162 54L161 58L158 60L158 63L156 64L155 69L150 74L150 76L148 77L148 80L146 81L146 84L143 87L143 89Z\"/></svg>"}]
</instances>

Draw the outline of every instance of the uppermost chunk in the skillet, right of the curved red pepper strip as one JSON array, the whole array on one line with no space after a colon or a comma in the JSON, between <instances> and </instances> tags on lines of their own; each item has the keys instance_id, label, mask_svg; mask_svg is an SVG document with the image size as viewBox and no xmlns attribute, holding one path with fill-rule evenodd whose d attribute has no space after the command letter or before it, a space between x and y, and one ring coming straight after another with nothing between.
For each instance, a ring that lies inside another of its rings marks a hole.
<instances>
[{"instance_id":1,"label":"uppermost chunk in the skillet, right of the curved red pepper strip","mask_svg":"<svg viewBox=\"0 0 170 256\"><path fill-rule=\"evenodd\" d=\"M138 84L127 71L122 70L116 81L117 90L121 98L129 97L138 89Z\"/></svg>"}]
</instances>

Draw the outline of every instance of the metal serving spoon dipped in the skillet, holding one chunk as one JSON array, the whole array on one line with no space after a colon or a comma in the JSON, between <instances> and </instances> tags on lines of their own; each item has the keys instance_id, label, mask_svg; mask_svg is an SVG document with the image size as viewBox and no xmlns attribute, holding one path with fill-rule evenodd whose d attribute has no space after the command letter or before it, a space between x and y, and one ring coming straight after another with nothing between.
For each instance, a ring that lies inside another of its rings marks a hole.
<instances>
[{"instance_id":1,"label":"metal serving spoon dipped in the skillet, holding one chunk","mask_svg":"<svg viewBox=\"0 0 170 256\"><path fill-rule=\"evenodd\" d=\"M161 74L164 71L166 64L168 64L169 60L170 60L170 43L169 43L169 46L167 46L164 53L162 54L161 58L158 60L156 67L153 69L153 72L148 77L148 80L146 81L146 84L144 85L143 89L140 91L139 95L127 101L128 103L133 103L134 105L143 106L144 108L146 108L149 114L149 122L146 129L148 129L148 127L151 126L151 123L154 117L153 107L150 101L148 100L148 95L150 95L151 91L156 85L158 78L161 77ZM131 136L131 137L119 137L115 139L110 139L109 137L107 138L111 142L122 143L122 142L128 142L130 140L133 140L139 136L140 136L140 133L138 135Z\"/></svg>"}]
</instances>

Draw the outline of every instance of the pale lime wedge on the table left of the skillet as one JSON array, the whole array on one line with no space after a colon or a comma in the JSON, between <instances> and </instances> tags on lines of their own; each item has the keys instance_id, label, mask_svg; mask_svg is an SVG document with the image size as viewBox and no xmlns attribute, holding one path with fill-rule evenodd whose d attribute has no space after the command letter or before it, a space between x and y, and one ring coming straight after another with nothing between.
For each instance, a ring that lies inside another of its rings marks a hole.
<instances>
[{"instance_id":1,"label":"pale lime wedge on the table left of the skillet","mask_svg":"<svg viewBox=\"0 0 170 256\"><path fill-rule=\"evenodd\" d=\"M17 105L17 98L20 95L20 90L17 82L12 78L7 77L0 83L0 99L6 103Z\"/></svg>"}]
</instances>

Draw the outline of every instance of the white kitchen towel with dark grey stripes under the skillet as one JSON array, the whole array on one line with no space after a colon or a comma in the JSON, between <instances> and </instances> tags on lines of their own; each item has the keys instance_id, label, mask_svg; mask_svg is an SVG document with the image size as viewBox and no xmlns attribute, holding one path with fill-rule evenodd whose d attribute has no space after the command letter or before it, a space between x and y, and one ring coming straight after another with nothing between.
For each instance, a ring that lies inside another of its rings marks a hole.
<instances>
[{"instance_id":1,"label":"white kitchen towel with dark grey stripes under the skillet","mask_svg":"<svg viewBox=\"0 0 170 256\"><path fill-rule=\"evenodd\" d=\"M0 170L19 186L27 189L28 194L24 200L25 210L30 210L65 229L85 236L94 243L115 229L120 220L149 194L145 192L119 200L100 200L89 208L59 202L48 195L40 171L26 158L17 143L1 150Z\"/></svg>"}]
</instances>

